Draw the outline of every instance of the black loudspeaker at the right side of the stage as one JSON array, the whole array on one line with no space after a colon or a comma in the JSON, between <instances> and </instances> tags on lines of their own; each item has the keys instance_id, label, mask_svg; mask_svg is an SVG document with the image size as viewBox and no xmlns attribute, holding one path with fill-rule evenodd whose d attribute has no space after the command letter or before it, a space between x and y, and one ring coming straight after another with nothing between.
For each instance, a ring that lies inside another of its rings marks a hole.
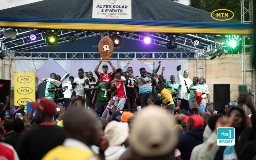
<instances>
[{"instance_id":1,"label":"black loudspeaker at the right side of the stage","mask_svg":"<svg viewBox=\"0 0 256 160\"><path fill-rule=\"evenodd\" d=\"M230 102L230 84L213 84L213 108L225 109Z\"/></svg>"}]
</instances>

